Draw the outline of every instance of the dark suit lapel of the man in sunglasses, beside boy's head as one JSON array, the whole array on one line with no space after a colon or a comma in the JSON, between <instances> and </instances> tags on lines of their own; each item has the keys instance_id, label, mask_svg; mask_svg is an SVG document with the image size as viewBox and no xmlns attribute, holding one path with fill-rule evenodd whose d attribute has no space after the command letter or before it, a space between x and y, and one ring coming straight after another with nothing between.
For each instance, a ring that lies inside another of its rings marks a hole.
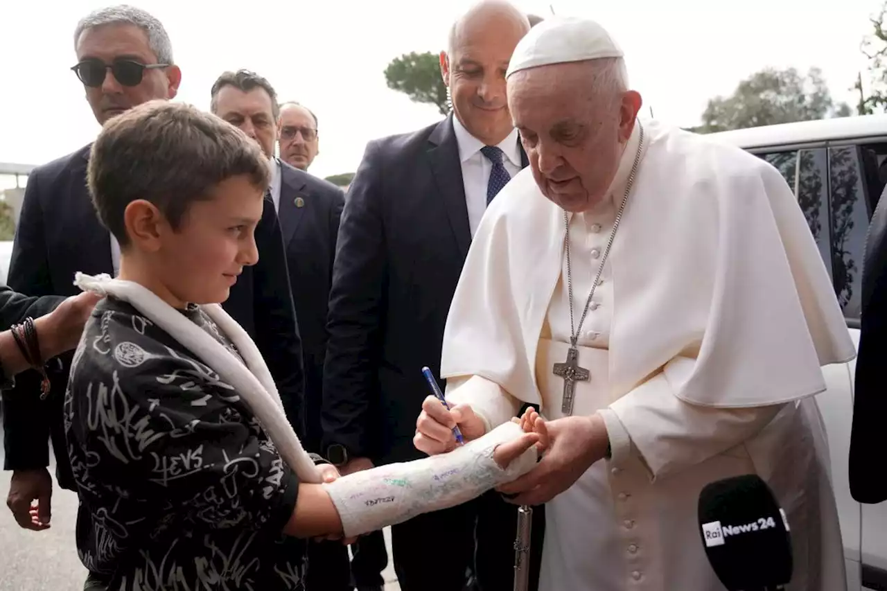
<instances>
[{"instance_id":1,"label":"dark suit lapel of the man in sunglasses, beside boy's head","mask_svg":"<svg viewBox=\"0 0 887 591\"><path fill-rule=\"evenodd\" d=\"M98 265L98 268L93 268L90 264L88 268L78 268L75 271L106 272L109 275L114 275L114 262L111 259L111 234L98 221L98 214L92 205L90 190L86 186L86 167L89 158L90 149L87 147L82 158L76 159L71 168L72 200L69 204L70 209L63 214L76 220L74 227L77 228L75 240L78 248L76 253L72 253L72 259L75 261L75 266L82 266L82 263L85 262Z\"/></svg>"}]
</instances>

